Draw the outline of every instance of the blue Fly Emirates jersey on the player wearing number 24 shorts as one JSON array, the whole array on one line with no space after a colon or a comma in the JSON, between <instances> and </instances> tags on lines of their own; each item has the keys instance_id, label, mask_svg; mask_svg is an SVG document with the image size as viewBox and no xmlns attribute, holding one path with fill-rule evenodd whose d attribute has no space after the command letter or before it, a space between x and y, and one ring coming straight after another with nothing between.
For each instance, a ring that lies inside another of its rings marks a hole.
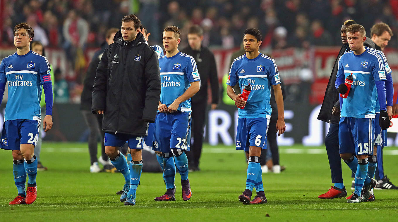
<instances>
[{"instance_id":1,"label":"blue Fly Emirates jersey on the player wearing number 24 shorts","mask_svg":"<svg viewBox=\"0 0 398 222\"><path fill-rule=\"evenodd\" d=\"M45 80L40 75L50 75L47 58L33 51L23 56L14 53L0 64L0 82L8 86L8 101L4 114L7 120L41 120L41 86Z\"/></svg>"}]
</instances>

